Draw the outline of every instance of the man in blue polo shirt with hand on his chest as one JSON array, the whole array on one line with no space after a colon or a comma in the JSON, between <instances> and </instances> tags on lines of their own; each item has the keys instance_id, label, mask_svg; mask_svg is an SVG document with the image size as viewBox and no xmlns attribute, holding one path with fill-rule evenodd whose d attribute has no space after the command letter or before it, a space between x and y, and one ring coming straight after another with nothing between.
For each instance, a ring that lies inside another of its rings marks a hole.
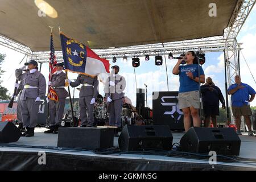
<instances>
[{"instance_id":1,"label":"man in blue polo shirt with hand on his chest","mask_svg":"<svg viewBox=\"0 0 256 182\"><path fill-rule=\"evenodd\" d=\"M253 136L253 131L251 131L250 115L252 115L252 113L250 108L250 102L254 100L256 92L253 88L251 88L250 85L243 84L239 75L235 76L235 82L236 84L229 86L228 94L232 95L232 112L236 120L237 134L241 135L240 125L241 116L243 115L243 117L245 117L245 123L249 130L248 135Z\"/></svg>"}]
</instances>

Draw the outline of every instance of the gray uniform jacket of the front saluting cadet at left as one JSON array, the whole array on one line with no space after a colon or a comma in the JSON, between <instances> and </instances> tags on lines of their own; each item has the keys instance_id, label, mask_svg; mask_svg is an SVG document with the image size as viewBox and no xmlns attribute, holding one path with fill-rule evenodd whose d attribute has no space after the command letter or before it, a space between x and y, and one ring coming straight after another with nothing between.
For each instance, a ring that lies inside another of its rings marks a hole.
<instances>
[{"instance_id":1,"label":"gray uniform jacket of the front saluting cadet at left","mask_svg":"<svg viewBox=\"0 0 256 182\"><path fill-rule=\"evenodd\" d=\"M23 85L37 86L38 88L23 88L22 94L20 96L21 100L26 100L27 98L44 98L46 96L46 78L39 71L34 73L26 72L22 73L21 69L16 69L16 78L21 81L23 80Z\"/></svg>"}]
</instances>

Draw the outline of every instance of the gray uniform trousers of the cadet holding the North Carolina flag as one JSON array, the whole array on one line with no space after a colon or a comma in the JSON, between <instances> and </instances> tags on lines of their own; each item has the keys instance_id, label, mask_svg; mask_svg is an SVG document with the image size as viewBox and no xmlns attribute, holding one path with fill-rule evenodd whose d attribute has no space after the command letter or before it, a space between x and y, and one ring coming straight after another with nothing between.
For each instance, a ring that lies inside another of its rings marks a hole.
<instances>
[{"instance_id":1,"label":"gray uniform trousers of the cadet holding the North Carolina flag","mask_svg":"<svg viewBox=\"0 0 256 182\"><path fill-rule=\"evenodd\" d=\"M93 106L90 104L93 96L80 96L79 97L79 112L81 118L81 125L86 125L86 127L93 127L94 117L93 117Z\"/></svg>"}]
</instances>

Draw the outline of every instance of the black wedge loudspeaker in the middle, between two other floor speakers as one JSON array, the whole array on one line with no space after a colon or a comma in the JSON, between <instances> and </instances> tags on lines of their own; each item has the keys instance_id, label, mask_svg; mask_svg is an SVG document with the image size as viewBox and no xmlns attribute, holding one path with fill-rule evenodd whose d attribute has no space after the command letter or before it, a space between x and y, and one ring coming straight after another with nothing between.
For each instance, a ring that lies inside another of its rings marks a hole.
<instances>
[{"instance_id":1,"label":"black wedge loudspeaker in the middle, between two other floor speakers","mask_svg":"<svg viewBox=\"0 0 256 182\"><path fill-rule=\"evenodd\" d=\"M118 144L122 151L171 150L172 133L168 125L125 125Z\"/></svg>"}]
</instances>

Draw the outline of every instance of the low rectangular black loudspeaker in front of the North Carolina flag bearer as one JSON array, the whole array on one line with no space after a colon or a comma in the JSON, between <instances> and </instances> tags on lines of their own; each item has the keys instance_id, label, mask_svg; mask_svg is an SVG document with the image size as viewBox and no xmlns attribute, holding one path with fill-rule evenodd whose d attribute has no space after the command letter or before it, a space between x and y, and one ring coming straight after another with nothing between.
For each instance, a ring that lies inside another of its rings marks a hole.
<instances>
[{"instance_id":1,"label":"low rectangular black loudspeaker in front of the North Carolina flag bearer","mask_svg":"<svg viewBox=\"0 0 256 182\"><path fill-rule=\"evenodd\" d=\"M114 129L66 127L59 129L58 147L96 150L113 147Z\"/></svg>"}]
</instances>

